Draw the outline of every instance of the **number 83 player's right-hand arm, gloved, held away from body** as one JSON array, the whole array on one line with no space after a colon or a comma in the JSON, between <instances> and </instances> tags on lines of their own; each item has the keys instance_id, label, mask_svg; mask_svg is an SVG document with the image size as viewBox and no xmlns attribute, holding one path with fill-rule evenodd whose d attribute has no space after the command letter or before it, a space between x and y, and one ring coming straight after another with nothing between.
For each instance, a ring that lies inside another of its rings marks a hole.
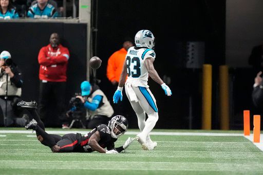
<instances>
[{"instance_id":1,"label":"number 83 player's right-hand arm, gloved, held away from body","mask_svg":"<svg viewBox=\"0 0 263 175\"><path fill-rule=\"evenodd\" d=\"M160 78L160 76L158 75L157 71L154 68L154 58L146 58L145 61L145 67L148 71L149 76L158 84L161 85L162 89L165 92L165 95L167 96L171 96L172 95L172 91L170 90L170 88L163 82L163 80Z\"/></svg>"}]
</instances>

